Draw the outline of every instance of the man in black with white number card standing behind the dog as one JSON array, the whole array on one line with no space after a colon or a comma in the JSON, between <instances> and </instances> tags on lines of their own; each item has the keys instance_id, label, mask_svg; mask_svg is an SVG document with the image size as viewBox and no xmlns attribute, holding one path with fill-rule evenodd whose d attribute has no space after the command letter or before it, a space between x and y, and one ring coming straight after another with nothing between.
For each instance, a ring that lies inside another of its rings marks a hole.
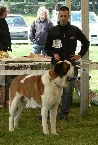
<instances>
[{"instance_id":1,"label":"man in black with white number card standing behind the dog","mask_svg":"<svg viewBox=\"0 0 98 145\"><path fill-rule=\"evenodd\" d=\"M45 52L48 56L52 57L51 66L54 66L58 61L68 60L75 62L83 57L89 48L89 41L82 31L71 25L68 19L69 8L62 6L58 13L59 22L57 26L54 26L49 30ZM77 47L77 40L82 44L80 52L75 54ZM68 87L63 89L63 95L61 99L61 112L58 114L61 120L68 119L67 115L71 108L72 98L72 82L69 82Z\"/></svg>"}]
</instances>

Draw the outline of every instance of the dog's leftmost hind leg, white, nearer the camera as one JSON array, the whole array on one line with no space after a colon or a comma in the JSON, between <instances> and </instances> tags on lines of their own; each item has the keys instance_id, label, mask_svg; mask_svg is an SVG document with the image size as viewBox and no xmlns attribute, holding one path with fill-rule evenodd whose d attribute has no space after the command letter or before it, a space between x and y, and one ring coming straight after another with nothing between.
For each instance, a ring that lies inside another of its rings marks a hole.
<instances>
[{"instance_id":1,"label":"dog's leftmost hind leg, white, nearer the camera","mask_svg":"<svg viewBox=\"0 0 98 145\"><path fill-rule=\"evenodd\" d=\"M16 111L17 111L17 107L18 107L18 103L19 100L22 96L16 92L15 97L12 101L11 104L9 104L9 113L10 113L10 117L9 117L9 131L14 131L14 117L16 115Z\"/></svg>"}]
</instances>

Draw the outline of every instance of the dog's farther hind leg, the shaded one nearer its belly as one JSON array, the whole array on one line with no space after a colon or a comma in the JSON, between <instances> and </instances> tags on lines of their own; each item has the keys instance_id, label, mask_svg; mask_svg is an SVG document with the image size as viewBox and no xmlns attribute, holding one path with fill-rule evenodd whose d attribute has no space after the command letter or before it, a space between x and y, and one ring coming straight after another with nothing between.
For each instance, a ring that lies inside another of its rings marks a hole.
<instances>
[{"instance_id":1,"label":"dog's farther hind leg, the shaded one nearer its belly","mask_svg":"<svg viewBox=\"0 0 98 145\"><path fill-rule=\"evenodd\" d=\"M16 114L16 116L15 116L15 118L14 118L14 127L15 127L15 128L18 127L18 121L19 121L19 119L20 119L20 115L21 115L23 109L24 109L25 106L26 106L26 103L27 103L27 102L25 102L25 101L23 100L23 97L21 97L21 99L19 100L19 104L18 104L17 114Z\"/></svg>"}]
</instances>

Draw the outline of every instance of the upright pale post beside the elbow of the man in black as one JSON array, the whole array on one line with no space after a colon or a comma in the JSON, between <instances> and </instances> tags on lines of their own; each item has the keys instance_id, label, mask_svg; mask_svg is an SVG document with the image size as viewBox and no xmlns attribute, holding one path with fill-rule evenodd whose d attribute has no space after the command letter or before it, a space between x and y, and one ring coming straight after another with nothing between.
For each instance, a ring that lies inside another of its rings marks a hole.
<instances>
[{"instance_id":1,"label":"upright pale post beside the elbow of the man in black","mask_svg":"<svg viewBox=\"0 0 98 145\"><path fill-rule=\"evenodd\" d=\"M89 39L89 0L81 0L82 13L82 32ZM89 113L89 52L85 54L81 61L81 101L80 111L81 115L88 115Z\"/></svg>"}]
</instances>

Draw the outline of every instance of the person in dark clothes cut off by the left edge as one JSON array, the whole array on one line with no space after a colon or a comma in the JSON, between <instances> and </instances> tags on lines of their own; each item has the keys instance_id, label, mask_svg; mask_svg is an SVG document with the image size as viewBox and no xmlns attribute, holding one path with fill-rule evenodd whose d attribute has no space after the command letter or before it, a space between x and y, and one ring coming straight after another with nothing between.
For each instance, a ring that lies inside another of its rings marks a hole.
<instances>
[{"instance_id":1,"label":"person in dark clothes cut off by the left edge","mask_svg":"<svg viewBox=\"0 0 98 145\"><path fill-rule=\"evenodd\" d=\"M10 32L5 20L7 17L7 12L8 10L6 7L0 6L0 56L7 54L7 51L12 51ZM2 70L3 66L1 66L0 69ZM4 85L5 76L0 76L0 86Z\"/></svg>"}]
</instances>

